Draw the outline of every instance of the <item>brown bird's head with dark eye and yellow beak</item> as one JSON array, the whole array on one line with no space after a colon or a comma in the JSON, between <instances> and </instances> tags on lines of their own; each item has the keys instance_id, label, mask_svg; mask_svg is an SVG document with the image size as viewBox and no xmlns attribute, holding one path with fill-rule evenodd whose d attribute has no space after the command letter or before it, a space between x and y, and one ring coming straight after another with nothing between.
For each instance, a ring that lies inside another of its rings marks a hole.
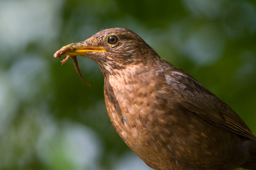
<instances>
[{"instance_id":1,"label":"brown bird's head with dark eye and yellow beak","mask_svg":"<svg viewBox=\"0 0 256 170\"><path fill-rule=\"evenodd\" d=\"M86 56L95 60L104 74L113 74L129 65L147 62L152 53L155 55L155 51L131 30L111 28L83 42L66 45L55 53L55 57Z\"/></svg>"}]
</instances>

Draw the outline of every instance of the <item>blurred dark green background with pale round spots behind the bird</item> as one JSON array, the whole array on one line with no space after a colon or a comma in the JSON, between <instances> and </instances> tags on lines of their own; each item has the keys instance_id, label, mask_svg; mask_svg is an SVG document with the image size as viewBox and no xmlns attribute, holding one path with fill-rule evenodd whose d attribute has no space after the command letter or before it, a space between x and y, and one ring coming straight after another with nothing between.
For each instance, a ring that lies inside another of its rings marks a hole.
<instances>
[{"instance_id":1,"label":"blurred dark green background with pale round spots behind the bird","mask_svg":"<svg viewBox=\"0 0 256 170\"><path fill-rule=\"evenodd\" d=\"M0 169L150 169L109 120L103 76L63 45L124 27L193 75L256 133L256 2L0 0Z\"/></svg>"}]
</instances>

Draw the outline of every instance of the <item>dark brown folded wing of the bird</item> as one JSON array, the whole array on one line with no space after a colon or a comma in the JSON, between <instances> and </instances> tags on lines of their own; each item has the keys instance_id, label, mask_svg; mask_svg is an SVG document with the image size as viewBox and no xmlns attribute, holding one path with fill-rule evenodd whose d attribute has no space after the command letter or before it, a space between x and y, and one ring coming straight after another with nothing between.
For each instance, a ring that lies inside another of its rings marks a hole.
<instances>
[{"instance_id":1,"label":"dark brown folded wing of the bird","mask_svg":"<svg viewBox=\"0 0 256 170\"><path fill-rule=\"evenodd\" d=\"M216 126L223 126L244 137L256 141L244 121L227 105L221 101L192 76L182 70L170 71L165 75L168 86L173 90L173 95L178 96L181 106L194 112L203 119Z\"/></svg>"}]
</instances>

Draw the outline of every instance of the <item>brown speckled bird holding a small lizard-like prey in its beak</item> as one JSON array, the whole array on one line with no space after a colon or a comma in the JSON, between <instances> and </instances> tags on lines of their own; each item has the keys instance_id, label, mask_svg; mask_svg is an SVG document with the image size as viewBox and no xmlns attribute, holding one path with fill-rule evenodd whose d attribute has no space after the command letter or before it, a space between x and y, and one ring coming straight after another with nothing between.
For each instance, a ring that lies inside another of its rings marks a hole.
<instances>
[{"instance_id":1,"label":"brown speckled bird holding a small lizard-like prey in its beak","mask_svg":"<svg viewBox=\"0 0 256 170\"><path fill-rule=\"evenodd\" d=\"M62 55L76 67L76 55L99 64L110 120L151 168L256 169L256 137L244 121L131 30L102 30Z\"/></svg>"}]
</instances>

